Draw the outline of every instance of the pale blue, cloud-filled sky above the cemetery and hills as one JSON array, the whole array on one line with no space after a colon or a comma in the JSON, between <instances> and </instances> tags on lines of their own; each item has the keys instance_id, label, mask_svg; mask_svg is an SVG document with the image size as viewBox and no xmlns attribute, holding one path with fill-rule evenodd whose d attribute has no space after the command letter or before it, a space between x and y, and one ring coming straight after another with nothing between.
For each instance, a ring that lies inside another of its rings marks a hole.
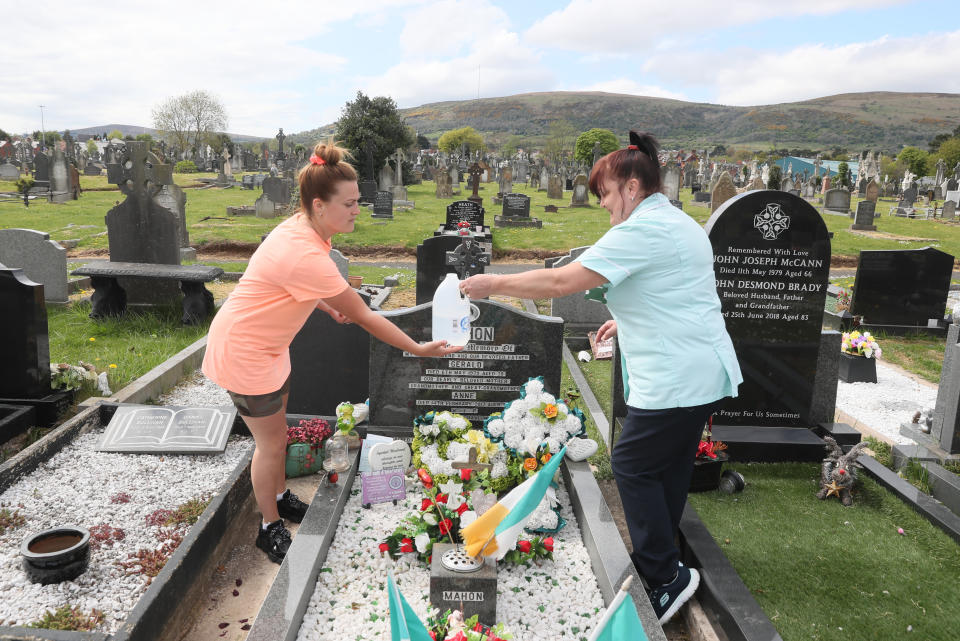
<instances>
[{"instance_id":1,"label":"pale blue, cloud-filled sky above the cemetery and hills","mask_svg":"<svg viewBox=\"0 0 960 641\"><path fill-rule=\"evenodd\" d=\"M95 7L95 8L94 8ZM599 90L730 105L856 91L960 93L958 0L271 0L15 3L0 129L152 125L194 89L229 131L400 107Z\"/></svg>"}]
</instances>

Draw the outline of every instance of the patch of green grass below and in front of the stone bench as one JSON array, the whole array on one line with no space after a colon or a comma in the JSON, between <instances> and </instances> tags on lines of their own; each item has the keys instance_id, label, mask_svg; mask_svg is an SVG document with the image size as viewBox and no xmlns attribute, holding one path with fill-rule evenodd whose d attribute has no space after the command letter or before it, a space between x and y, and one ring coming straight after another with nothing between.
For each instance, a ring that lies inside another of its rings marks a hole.
<instances>
[{"instance_id":1,"label":"patch of green grass below and in front of the stone bench","mask_svg":"<svg viewBox=\"0 0 960 641\"><path fill-rule=\"evenodd\" d=\"M180 305L148 312L128 309L122 318L99 321L89 318L89 313L88 301L47 308L50 360L89 363L97 372L107 372L114 392L203 338L210 326L209 322L183 325ZM86 385L77 390L74 400L79 403L97 395L96 385Z\"/></svg>"}]
</instances>

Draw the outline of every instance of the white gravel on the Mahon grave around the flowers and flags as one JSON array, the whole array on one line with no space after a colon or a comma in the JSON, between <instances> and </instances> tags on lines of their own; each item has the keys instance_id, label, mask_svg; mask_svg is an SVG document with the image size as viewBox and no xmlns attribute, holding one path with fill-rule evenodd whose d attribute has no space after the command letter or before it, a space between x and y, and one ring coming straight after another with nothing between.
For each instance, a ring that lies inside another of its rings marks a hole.
<instances>
[{"instance_id":1,"label":"white gravel on the Mahon grave around the flowers and flags","mask_svg":"<svg viewBox=\"0 0 960 641\"><path fill-rule=\"evenodd\" d=\"M408 486L409 487L409 486ZM413 486L419 487L419 486ZM586 639L604 609L603 598L580 537L580 526L563 484L557 490L567 526L554 536L553 561L539 566L498 567L497 618L517 641ZM378 545L408 512L420 505L420 493L405 501L360 506L360 480L340 519L336 537L307 606L298 641L390 639L387 572L392 571L404 598L426 623L430 570L415 554L397 561L380 556ZM521 538L529 538L523 535ZM541 610L542 608L542 610ZM494 622L484 622L492 624Z\"/></svg>"}]
</instances>

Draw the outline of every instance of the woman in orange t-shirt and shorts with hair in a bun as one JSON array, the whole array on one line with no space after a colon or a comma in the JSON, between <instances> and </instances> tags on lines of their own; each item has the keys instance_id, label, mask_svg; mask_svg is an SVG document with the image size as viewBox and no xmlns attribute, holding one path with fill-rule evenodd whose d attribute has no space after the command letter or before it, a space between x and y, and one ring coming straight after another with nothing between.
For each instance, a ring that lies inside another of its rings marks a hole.
<instances>
[{"instance_id":1,"label":"woman in orange t-shirt and shorts with hair in a bun","mask_svg":"<svg viewBox=\"0 0 960 641\"><path fill-rule=\"evenodd\" d=\"M330 238L353 231L360 214L357 174L345 150L318 144L300 171L300 209L257 248L217 312L207 336L203 373L225 388L253 434L250 477L263 523L257 547L280 563L290 547L283 519L299 523L307 505L286 490L290 343L314 309L421 357L459 351L446 341L419 344L371 311L330 258Z\"/></svg>"}]
</instances>

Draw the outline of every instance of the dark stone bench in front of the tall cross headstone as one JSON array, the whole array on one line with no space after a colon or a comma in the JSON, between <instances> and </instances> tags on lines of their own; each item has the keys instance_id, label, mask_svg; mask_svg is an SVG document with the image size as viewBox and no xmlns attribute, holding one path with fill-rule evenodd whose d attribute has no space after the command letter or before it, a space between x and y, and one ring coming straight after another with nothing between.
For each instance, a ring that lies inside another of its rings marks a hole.
<instances>
[{"instance_id":1,"label":"dark stone bench in front of the tall cross headstone","mask_svg":"<svg viewBox=\"0 0 960 641\"><path fill-rule=\"evenodd\" d=\"M155 263L102 262L84 265L70 272L89 276L93 287L90 318L120 316L127 308L127 293L118 278L155 278L176 280L183 292L183 322L196 325L213 312L213 294L204 286L223 275L220 267L209 265L161 265Z\"/></svg>"}]
</instances>

